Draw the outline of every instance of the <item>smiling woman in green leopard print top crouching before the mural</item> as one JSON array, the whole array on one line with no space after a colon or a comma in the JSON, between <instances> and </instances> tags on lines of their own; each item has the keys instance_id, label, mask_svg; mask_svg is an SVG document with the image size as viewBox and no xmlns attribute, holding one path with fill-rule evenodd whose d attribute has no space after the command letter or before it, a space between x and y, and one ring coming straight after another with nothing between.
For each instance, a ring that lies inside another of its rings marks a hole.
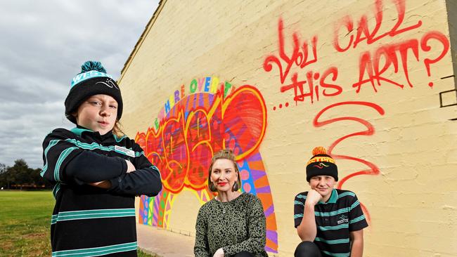
<instances>
[{"instance_id":1,"label":"smiling woman in green leopard print top crouching before the mural","mask_svg":"<svg viewBox=\"0 0 457 257\"><path fill-rule=\"evenodd\" d=\"M266 220L262 202L241 193L240 171L231 150L220 150L210 165L208 186L217 197L198 211L195 257L264 257Z\"/></svg>"}]
</instances>

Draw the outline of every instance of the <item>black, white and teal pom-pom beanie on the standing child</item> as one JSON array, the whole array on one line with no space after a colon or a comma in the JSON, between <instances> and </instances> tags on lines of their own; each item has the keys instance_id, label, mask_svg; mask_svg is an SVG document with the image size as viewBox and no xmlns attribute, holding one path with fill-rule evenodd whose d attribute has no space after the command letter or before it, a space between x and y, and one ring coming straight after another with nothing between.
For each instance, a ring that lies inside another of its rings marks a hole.
<instances>
[{"instance_id":1,"label":"black, white and teal pom-pom beanie on the standing child","mask_svg":"<svg viewBox=\"0 0 457 257\"><path fill-rule=\"evenodd\" d=\"M70 85L70 93L65 99L65 116L76 124L72 113L78 110L84 100L91 95L110 95L117 101L117 119L122 116L122 95L119 86L100 62L87 61L81 66L81 72L77 74Z\"/></svg>"}]
</instances>

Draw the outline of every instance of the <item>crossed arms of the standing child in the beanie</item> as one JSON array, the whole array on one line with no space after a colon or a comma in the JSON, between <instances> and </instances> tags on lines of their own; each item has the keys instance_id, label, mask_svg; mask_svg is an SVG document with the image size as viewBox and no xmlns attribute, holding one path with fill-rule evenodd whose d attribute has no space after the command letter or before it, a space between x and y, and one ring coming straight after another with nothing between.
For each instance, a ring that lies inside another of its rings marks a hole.
<instances>
[{"instance_id":1,"label":"crossed arms of the standing child in the beanie","mask_svg":"<svg viewBox=\"0 0 457 257\"><path fill-rule=\"evenodd\" d=\"M56 129L44 140L41 176L51 183L92 185L118 195L155 196L162 190L160 171L144 154L131 158L131 162L108 157L86 150L71 135L69 131ZM143 151L136 143L133 148L136 152Z\"/></svg>"}]
</instances>

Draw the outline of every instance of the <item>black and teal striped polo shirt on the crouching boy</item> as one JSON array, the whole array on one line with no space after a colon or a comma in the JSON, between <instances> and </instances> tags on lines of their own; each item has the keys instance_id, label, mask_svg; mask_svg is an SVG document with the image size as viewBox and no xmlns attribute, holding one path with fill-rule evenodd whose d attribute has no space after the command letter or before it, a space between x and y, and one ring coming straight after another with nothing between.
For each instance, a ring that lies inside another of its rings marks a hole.
<instances>
[{"instance_id":1,"label":"black and teal striped polo shirt on the crouching boy","mask_svg":"<svg viewBox=\"0 0 457 257\"><path fill-rule=\"evenodd\" d=\"M294 201L295 228L302 223L304 202L308 192L301 192ZM314 206L317 235L314 243L322 256L348 257L351 254L349 232L368 227L356 194L333 189L328 202Z\"/></svg>"}]
</instances>

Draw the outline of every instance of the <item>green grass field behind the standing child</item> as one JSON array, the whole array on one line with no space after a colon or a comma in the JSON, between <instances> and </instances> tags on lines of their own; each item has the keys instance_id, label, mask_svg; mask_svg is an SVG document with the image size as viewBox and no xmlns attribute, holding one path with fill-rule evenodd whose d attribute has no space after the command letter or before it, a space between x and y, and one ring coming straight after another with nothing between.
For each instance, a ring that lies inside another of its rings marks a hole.
<instances>
[{"instance_id":1,"label":"green grass field behind the standing child","mask_svg":"<svg viewBox=\"0 0 457 257\"><path fill-rule=\"evenodd\" d=\"M51 191L0 191L0 256L51 256ZM153 257L139 251L140 257Z\"/></svg>"}]
</instances>

